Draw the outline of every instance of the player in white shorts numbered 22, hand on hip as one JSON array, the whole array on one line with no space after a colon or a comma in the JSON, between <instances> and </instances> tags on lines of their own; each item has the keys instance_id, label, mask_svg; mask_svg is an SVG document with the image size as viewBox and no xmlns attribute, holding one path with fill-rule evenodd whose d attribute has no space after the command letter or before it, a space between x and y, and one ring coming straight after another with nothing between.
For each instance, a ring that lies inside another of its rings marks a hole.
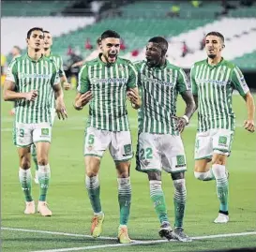
<instances>
[{"instance_id":1,"label":"player in white shorts numbered 22, hand on hip","mask_svg":"<svg viewBox=\"0 0 256 252\"><path fill-rule=\"evenodd\" d=\"M191 239L183 230L187 162L180 133L188 125L195 104L184 70L170 64L166 59L167 50L165 38L152 37L146 46L146 60L134 64L143 96L139 110L136 170L147 173L150 198L160 221L159 235L168 240L190 242ZM181 117L176 116L178 94L187 105ZM174 230L166 211L161 185L162 170L171 173L173 179Z\"/></svg>"}]
</instances>

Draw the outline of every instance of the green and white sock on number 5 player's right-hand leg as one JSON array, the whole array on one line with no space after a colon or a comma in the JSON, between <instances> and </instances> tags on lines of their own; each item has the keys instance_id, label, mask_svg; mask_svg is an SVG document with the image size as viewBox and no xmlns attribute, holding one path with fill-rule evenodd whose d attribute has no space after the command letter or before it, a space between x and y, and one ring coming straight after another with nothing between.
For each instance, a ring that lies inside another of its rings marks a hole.
<instances>
[{"instance_id":1,"label":"green and white sock on number 5 player's right-hand leg","mask_svg":"<svg viewBox=\"0 0 256 252\"><path fill-rule=\"evenodd\" d=\"M131 185L129 178L118 178L118 202L120 207L120 225L128 224L131 200Z\"/></svg>"}]
</instances>

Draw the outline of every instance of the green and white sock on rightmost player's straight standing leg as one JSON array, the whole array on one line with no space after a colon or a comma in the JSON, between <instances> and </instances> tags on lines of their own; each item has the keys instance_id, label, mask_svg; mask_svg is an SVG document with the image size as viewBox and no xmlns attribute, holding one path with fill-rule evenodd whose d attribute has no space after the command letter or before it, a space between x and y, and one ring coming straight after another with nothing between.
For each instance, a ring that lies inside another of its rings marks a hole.
<instances>
[{"instance_id":1,"label":"green and white sock on rightmost player's straight standing leg","mask_svg":"<svg viewBox=\"0 0 256 252\"><path fill-rule=\"evenodd\" d=\"M227 178L225 166L214 164L213 172L216 177L219 210L223 212L228 212L229 181Z\"/></svg>"}]
</instances>

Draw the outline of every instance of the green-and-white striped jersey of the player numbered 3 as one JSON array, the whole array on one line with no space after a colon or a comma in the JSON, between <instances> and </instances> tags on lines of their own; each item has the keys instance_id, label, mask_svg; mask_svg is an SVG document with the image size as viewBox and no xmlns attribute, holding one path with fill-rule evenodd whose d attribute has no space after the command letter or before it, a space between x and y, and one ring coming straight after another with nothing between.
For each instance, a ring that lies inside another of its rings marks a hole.
<instances>
[{"instance_id":1,"label":"green-and-white striped jersey of the player numbered 3","mask_svg":"<svg viewBox=\"0 0 256 252\"><path fill-rule=\"evenodd\" d=\"M18 57L8 67L7 80L15 83L15 91L18 93L38 90L35 101L15 101L16 123L52 123L53 85L59 82L53 60L41 57L34 61L27 54Z\"/></svg>"}]
</instances>

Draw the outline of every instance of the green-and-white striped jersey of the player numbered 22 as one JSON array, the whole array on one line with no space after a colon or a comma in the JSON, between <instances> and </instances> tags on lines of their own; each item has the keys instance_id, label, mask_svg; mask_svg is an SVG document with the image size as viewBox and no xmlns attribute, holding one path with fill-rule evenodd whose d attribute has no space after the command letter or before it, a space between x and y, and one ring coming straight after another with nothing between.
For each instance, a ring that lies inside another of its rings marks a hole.
<instances>
[{"instance_id":1,"label":"green-and-white striped jersey of the player numbered 22","mask_svg":"<svg viewBox=\"0 0 256 252\"><path fill-rule=\"evenodd\" d=\"M178 94L190 89L184 70L166 60L162 67L148 67L146 61L134 63L143 105L139 109L139 132L179 135L175 130Z\"/></svg>"}]
</instances>

